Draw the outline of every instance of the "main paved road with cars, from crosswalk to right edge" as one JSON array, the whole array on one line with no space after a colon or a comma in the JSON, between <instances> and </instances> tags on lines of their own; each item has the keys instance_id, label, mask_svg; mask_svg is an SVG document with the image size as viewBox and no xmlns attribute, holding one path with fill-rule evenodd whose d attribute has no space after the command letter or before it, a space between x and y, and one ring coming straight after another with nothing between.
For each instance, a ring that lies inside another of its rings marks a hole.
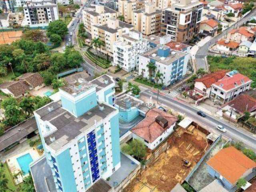
<instances>
[{"instance_id":1,"label":"main paved road with cars, from crosswalk to right edge","mask_svg":"<svg viewBox=\"0 0 256 192\"><path fill-rule=\"evenodd\" d=\"M150 90L142 92L141 95L147 96L148 98L150 98L150 96L152 96L152 98L154 99L157 98L157 93L154 93ZM223 134L224 136L231 138L235 141L242 141L247 147L252 148L254 151L256 151L256 137L253 137L251 133L237 129L212 116L206 116L205 118L198 116L196 114L198 110L192 106L189 106L185 102L180 102L177 100L170 99L166 96L159 95L159 103L162 103L178 112L185 114L186 116L189 116L199 124L206 126L206 128L211 130L211 132L218 132L221 134L222 132L216 130L216 126L222 125L227 129L227 132Z\"/></svg>"}]
</instances>

